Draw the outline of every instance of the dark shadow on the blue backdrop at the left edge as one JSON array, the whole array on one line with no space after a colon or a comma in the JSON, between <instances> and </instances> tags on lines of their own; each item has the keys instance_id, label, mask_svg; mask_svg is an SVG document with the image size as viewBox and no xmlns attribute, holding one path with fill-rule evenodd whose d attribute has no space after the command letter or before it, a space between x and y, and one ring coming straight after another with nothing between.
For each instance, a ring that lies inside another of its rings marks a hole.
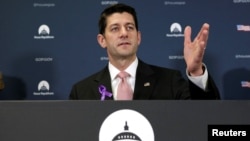
<instances>
[{"instance_id":1,"label":"dark shadow on the blue backdrop at the left edge","mask_svg":"<svg viewBox=\"0 0 250 141\"><path fill-rule=\"evenodd\" d=\"M26 86L17 77L3 74L4 89L0 91L0 100L24 100L26 98Z\"/></svg>"}]
</instances>

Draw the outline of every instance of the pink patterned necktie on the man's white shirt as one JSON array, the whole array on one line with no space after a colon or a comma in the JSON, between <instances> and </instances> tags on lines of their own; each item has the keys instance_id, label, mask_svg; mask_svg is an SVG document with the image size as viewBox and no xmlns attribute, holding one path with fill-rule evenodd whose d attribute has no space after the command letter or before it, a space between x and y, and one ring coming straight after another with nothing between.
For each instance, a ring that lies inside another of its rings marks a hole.
<instances>
[{"instance_id":1,"label":"pink patterned necktie on the man's white shirt","mask_svg":"<svg viewBox=\"0 0 250 141\"><path fill-rule=\"evenodd\" d=\"M118 74L118 77L121 78L121 81L117 89L117 100L132 100L133 90L127 81L129 74L122 71Z\"/></svg>"}]
</instances>

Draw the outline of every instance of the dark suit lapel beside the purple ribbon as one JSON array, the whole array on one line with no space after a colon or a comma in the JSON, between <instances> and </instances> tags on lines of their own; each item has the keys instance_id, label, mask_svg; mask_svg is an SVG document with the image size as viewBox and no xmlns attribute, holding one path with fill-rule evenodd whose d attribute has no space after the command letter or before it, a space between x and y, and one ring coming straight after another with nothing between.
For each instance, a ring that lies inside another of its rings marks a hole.
<instances>
[{"instance_id":1,"label":"dark suit lapel beside the purple ribbon","mask_svg":"<svg viewBox=\"0 0 250 141\"><path fill-rule=\"evenodd\" d=\"M100 73L98 73L94 81L97 84L97 88L102 85L106 88L106 91L112 93L110 73L107 66ZM99 92L99 89L97 90L98 91L96 91L96 97L101 99L102 95ZM113 100L113 95L111 97L106 96L105 100Z\"/></svg>"}]
</instances>

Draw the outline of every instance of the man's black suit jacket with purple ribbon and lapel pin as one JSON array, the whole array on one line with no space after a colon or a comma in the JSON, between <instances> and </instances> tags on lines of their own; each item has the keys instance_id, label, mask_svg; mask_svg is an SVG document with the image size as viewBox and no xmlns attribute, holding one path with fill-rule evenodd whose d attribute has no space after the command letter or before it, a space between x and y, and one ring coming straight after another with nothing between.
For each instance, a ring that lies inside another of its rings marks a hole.
<instances>
[{"instance_id":1,"label":"man's black suit jacket with purple ribbon and lapel pin","mask_svg":"<svg viewBox=\"0 0 250 141\"><path fill-rule=\"evenodd\" d=\"M212 78L208 77L206 90L187 81L177 70L146 64L139 60L136 71L134 100L163 99L220 99L219 91ZM98 87L104 85L112 93L108 66L98 73L76 83L69 99L100 100ZM106 97L112 100L112 97Z\"/></svg>"}]
</instances>

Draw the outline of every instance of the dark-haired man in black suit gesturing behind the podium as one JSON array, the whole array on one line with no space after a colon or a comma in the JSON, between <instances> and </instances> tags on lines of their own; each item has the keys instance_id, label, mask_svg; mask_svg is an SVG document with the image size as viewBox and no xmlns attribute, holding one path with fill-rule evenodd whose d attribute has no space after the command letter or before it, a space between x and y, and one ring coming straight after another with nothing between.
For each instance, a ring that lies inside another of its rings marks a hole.
<instances>
[{"instance_id":1,"label":"dark-haired man in black suit gesturing behind the podium","mask_svg":"<svg viewBox=\"0 0 250 141\"><path fill-rule=\"evenodd\" d=\"M130 99L220 99L219 91L203 61L209 25L204 24L191 41L191 27L184 31L184 59L187 65L186 81L177 70L149 65L138 59L136 52L141 33L134 8L116 4L106 8L99 20L98 43L107 50L109 64L101 71L76 83L69 99L123 100L119 98L119 84L126 72Z\"/></svg>"}]
</instances>

